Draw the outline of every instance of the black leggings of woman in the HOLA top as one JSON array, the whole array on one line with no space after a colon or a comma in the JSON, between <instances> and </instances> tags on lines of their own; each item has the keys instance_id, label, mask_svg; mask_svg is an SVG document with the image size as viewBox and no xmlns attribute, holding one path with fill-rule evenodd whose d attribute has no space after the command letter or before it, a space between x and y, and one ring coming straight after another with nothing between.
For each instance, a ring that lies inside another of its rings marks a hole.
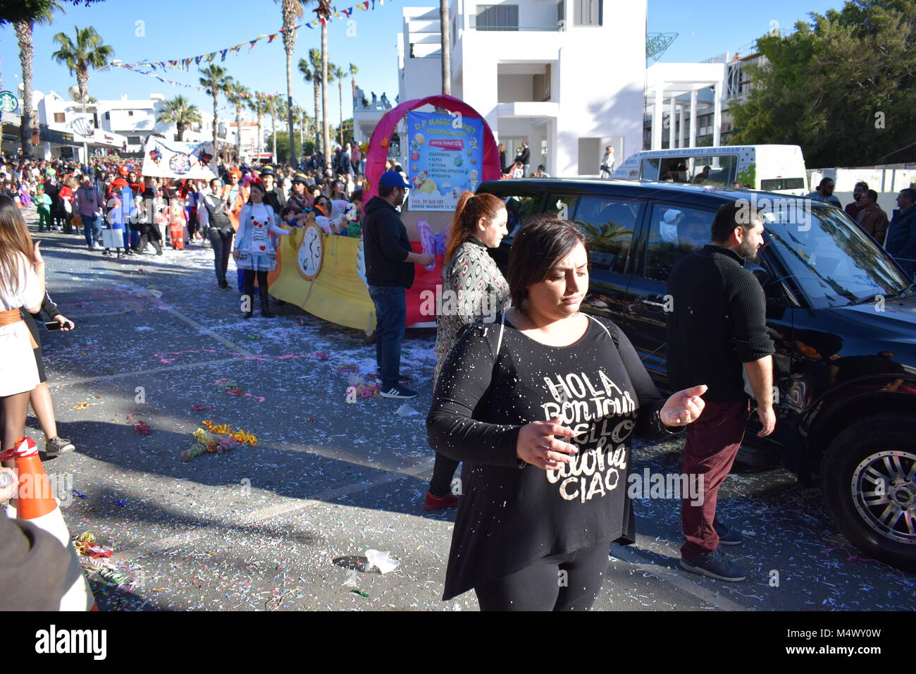
<instances>
[{"instance_id":1,"label":"black leggings of woman in the HOLA top","mask_svg":"<svg viewBox=\"0 0 916 674\"><path fill-rule=\"evenodd\" d=\"M588 611L601 591L609 543L537 559L475 587L481 611ZM565 573L563 573L565 571Z\"/></svg>"}]
</instances>

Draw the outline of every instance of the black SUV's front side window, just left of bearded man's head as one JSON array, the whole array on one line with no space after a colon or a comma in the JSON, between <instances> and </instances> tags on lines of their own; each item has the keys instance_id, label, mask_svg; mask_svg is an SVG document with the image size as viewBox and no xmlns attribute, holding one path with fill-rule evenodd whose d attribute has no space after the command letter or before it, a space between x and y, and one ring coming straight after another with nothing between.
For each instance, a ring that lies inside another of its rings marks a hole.
<instances>
[{"instance_id":1,"label":"black SUV's front side window, just left of bearded man's head","mask_svg":"<svg viewBox=\"0 0 916 674\"><path fill-rule=\"evenodd\" d=\"M711 243L714 215L712 211L681 205L653 205L646 247L646 277L667 281L678 260Z\"/></svg>"}]
</instances>

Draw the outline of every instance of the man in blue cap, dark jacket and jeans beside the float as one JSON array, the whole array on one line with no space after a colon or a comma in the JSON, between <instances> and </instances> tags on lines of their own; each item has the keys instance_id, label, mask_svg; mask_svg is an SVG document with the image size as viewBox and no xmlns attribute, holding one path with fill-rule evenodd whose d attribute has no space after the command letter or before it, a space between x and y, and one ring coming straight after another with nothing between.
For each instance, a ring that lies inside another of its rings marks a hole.
<instances>
[{"instance_id":1,"label":"man in blue cap, dark jacket and jeans beside the float","mask_svg":"<svg viewBox=\"0 0 916 674\"><path fill-rule=\"evenodd\" d=\"M363 209L365 279L376 304L376 365L383 398L416 398L417 392L401 386L400 348L407 322L407 293L413 285L413 265L429 266L431 255L410 248L407 228L397 207L404 203L408 183L397 171L386 171L378 180L378 194Z\"/></svg>"}]
</instances>

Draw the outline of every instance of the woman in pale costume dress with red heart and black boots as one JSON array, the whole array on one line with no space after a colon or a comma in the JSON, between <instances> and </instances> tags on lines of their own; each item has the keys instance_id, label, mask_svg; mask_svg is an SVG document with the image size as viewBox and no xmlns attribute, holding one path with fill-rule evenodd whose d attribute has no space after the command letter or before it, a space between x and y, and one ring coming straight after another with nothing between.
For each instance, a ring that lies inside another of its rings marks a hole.
<instances>
[{"instance_id":1,"label":"woman in pale costume dress with red heart and black boots","mask_svg":"<svg viewBox=\"0 0 916 674\"><path fill-rule=\"evenodd\" d=\"M238 231L235 232L233 257L235 266L245 270L245 292L242 295L242 316L251 318L255 302L255 276L261 296L261 315L273 318L268 306L267 272L277 269L277 252L270 234L288 237L290 232L278 226L279 215L270 204L264 203L264 185L249 182L249 201L238 214Z\"/></svg>"}]
</instances>

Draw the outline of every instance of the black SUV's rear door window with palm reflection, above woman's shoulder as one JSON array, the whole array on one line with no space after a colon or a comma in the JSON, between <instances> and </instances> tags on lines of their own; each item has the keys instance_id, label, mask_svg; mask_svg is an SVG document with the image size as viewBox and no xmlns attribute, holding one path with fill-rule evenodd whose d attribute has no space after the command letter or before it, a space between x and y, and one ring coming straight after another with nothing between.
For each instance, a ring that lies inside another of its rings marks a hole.
<instances>
[{"instance_id":1,"label":"black SUV's rear door window with palm reflection, above woman's shoulder","mask_svg":"<svg viewBox=\"0 0 916 674\"><path fill-rule=\"evenodd\" d=\"M624 271L641 210L639 202L621 199L586 196L579 201L575 223L588 239L589 255L596 268Z\"/></svg>"}]
</instances>

